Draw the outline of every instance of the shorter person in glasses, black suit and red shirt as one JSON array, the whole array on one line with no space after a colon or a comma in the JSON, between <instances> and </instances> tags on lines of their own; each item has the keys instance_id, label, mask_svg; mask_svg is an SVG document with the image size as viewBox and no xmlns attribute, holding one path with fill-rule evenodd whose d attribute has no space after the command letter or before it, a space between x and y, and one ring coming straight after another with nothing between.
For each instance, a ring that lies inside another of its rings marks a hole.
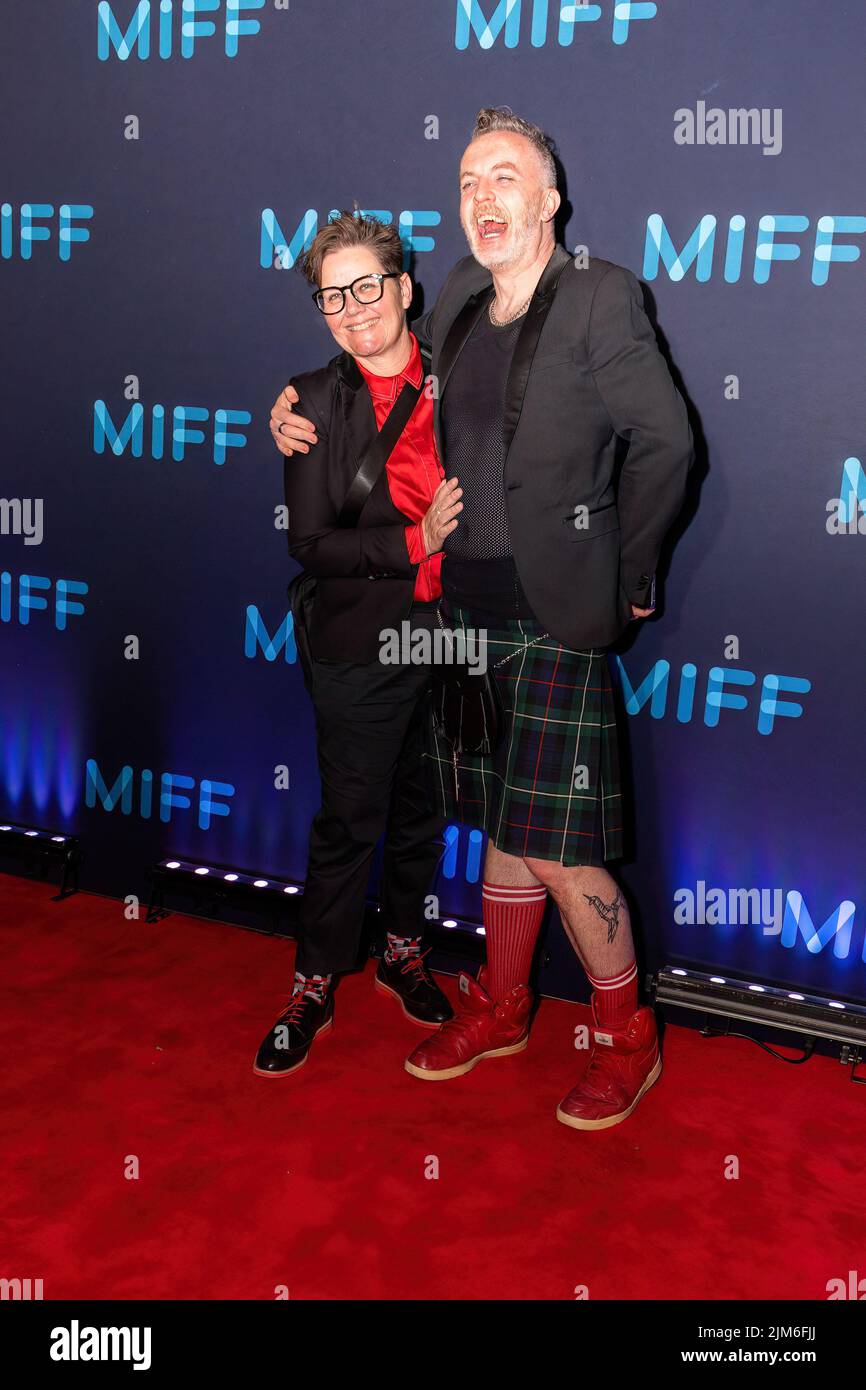
<instances>
[{"instance_id":1,"label":"shorter person in glasses, black suit and red shirt","mask_svg":"<svg viewBox=\"0 0 866 1390\"><path fill-rule=\"evenodd\" d=\"M430 670L381 656L386 630L399 632L405 620L435 624L442 542L456 525L460 488L443 481L432 400L420 389L428 360L406 322L413 286L396 229L342 213L318 232L302 270L342 352L295 378L317 443L285 460L289 552L317 578L309 642L322 801L310 831L292 997L254 1063L268 1077L302 1066L332 1022L334 977L357 960L382 833L386 948L377 987L428 1027L453 1012L421 951L443 826L423 758ZM359 513L359 466L371 468L374 443L381 461L377 431L403 391L402 411L420 395ZM356 521L346 525L350 489Z\"/></svg>"}]
</instances>

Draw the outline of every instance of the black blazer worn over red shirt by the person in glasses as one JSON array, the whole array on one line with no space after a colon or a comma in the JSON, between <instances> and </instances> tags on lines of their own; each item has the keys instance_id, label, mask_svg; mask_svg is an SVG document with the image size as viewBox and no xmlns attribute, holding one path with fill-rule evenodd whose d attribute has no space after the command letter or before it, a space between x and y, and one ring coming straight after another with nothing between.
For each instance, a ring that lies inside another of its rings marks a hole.
<instances>
[{"instance_id":1,"label":"black blazer worn over red shirt by the person in glasses","mask_svg":"<svg viewBox=\"0 0 866 1390\"><path fill-rule=\"evenodd\" d=\"M421 353L424 374L430 356ZM395 507L382 468L357 524L339 512L377 423L354 357L342 352L327 367L292 378L295 407L316 424L309 453L284 459L289 555L318 577L310 651L316 660L375 662L379 631L409 617L417 564L406 531L411 518Z\"/></svg>"}]
</instances>

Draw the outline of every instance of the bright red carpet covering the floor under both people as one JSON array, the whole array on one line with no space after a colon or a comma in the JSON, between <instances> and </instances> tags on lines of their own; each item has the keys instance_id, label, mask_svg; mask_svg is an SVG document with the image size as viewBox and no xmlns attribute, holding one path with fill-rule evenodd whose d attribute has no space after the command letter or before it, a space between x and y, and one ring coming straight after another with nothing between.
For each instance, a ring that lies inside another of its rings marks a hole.
<instances>
[{"instance_id":1,"label":"bright red carpet covering the floor under both people","mask_svg":"<svg viewBox=\"0 0 866 1390\"><path fill-rule=\"evenodd\" d=\"M423 1083L368 969L267 1081L293 948L54 891L0 877L0 1276L46 1298L823 1300L863 1270L866 1093L838 1062L669 1027L631 1119L580 1133L553 1112L587 1011L545 1001L524 1054Z\"/></svg>"}]
</instances>

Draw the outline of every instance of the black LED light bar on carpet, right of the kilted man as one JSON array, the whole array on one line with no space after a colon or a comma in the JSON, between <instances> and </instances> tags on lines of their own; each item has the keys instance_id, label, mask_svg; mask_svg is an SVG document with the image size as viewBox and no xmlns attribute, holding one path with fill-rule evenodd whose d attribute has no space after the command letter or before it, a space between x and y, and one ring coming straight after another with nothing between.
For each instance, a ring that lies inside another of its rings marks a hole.
<instances>
[{"instance_id":1,"label":"black LED light bar on carpet, right of the kilted man","mask_svg":"<svg viewBox=\"0 0 866 1390\"><path fill-rule=\"evenodd\" d=\"M706 1033L709 1020L714 1016L727 1020L728 1033L734 1019L799 1033L806 1055L810 1055L817 1038L835 1042L840 1045L840 1061L851 1066L852 1080L866 1083L866 1077L855 1076L858 1065L866 1061L863 1004L703 974L701 970L684 970L680 966L666 966L659 970L651 980L651 992L660 1005L703 1013Z\"/></svg>"}]
</instances>

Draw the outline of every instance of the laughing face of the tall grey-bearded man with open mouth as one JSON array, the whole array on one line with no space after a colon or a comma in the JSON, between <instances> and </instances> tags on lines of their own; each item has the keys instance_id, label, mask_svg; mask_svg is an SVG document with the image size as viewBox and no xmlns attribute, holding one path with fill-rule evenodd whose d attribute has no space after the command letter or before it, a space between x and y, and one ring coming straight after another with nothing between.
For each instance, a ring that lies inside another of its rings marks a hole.
<instances>
[{"instance_id":1,"label":"laughing face of the tall grey-bearded man with open mouth","mask_svg":"<svg viewBox=\"0 0 866 1390\"><path fill-rule=\"evenodd\" d=\"M487 270L531 260L557 206L559 195L550 195L525 135L492 131L467 146L460 161L460 224Z\"/></svg>"}]
</instances>

